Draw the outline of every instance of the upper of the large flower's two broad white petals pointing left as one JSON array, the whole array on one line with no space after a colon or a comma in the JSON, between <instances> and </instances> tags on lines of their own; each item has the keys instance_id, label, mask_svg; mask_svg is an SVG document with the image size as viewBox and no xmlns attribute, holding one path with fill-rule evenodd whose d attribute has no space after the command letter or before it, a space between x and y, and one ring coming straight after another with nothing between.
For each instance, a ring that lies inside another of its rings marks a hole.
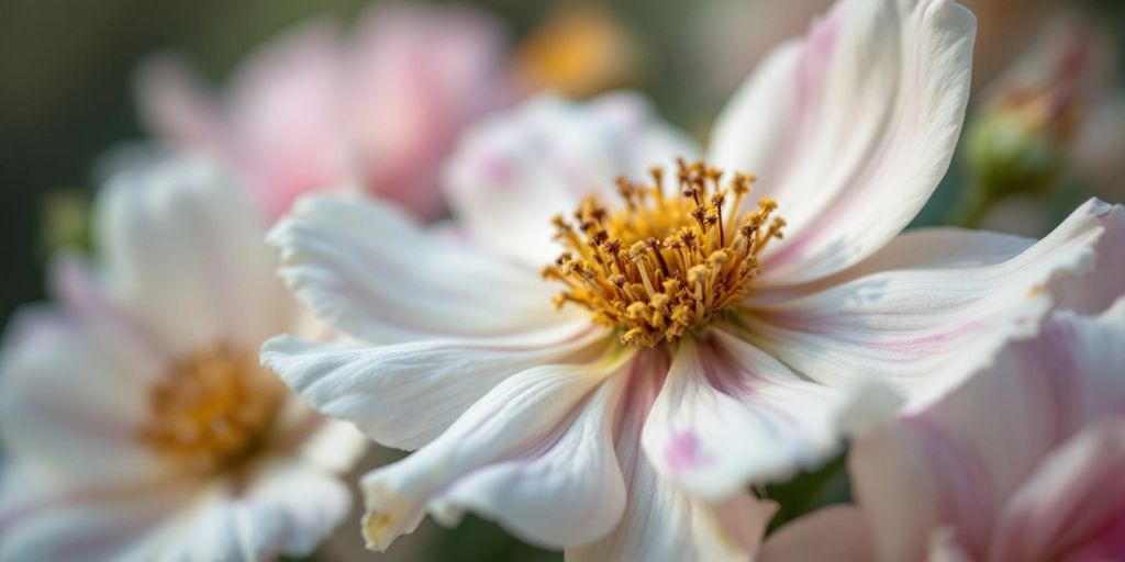
<instances>
[{"instance_id":1,"label":"upper of the large flower's two broad white petals pointing left","mask_svg":"<svg viewBox=\"0 0 1125 562\"><path fill-rule=\"evenodd\" d=\"M376 201L303 199L270 242L294 293L361 339L498 336L575 319L555 310L556 289L538 270L423 232Z\"/></svg>"}]
</instances>

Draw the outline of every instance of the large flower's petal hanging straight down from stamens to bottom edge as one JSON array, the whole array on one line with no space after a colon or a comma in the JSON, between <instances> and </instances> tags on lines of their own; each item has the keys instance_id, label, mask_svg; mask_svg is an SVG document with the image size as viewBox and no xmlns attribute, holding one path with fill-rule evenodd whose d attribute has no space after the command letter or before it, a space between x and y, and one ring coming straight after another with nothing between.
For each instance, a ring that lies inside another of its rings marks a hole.
<instances>
[{"instance_id":1,"label":"large flower's petal hanging straight down from stamens to bottom edge","mask_svg":"<svg viewBox=\"0 0 1125 562\"><path fill-rule=\"evenodd\" d=\"M588 545L572 545L569 562L601 560L734 561L753 559L776 506L741 492L718 504L688 496L659 474L641 450L641 432L665 379L667 363L641 353L628 377L615 429L615 452L628 486L616 527Z\"/></svg>"}]
</instances>

